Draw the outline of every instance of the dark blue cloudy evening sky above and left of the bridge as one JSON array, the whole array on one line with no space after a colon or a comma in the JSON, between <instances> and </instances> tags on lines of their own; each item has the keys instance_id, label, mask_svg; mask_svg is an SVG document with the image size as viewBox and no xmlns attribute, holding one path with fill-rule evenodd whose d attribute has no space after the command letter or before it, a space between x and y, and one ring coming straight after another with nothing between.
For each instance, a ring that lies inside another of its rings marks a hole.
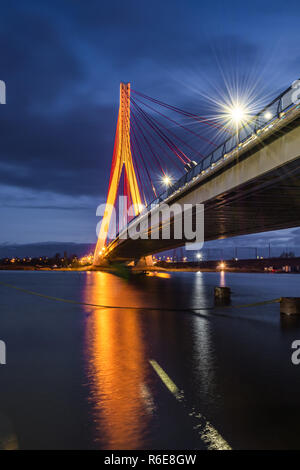
<instances>
[{"instance_id":1,"label":"dark blue cloudy evening sky above and left of the bridge","mask_svg":"<svg viewBox=\"0 0 300 470\"><path fill-rule=\"evenodd\" d=\"M2 2L0 243L95 241L120 81L199 111L237 84L259 107L300 76L299 16L290 0Z\"/></svg>"}]
</instances>

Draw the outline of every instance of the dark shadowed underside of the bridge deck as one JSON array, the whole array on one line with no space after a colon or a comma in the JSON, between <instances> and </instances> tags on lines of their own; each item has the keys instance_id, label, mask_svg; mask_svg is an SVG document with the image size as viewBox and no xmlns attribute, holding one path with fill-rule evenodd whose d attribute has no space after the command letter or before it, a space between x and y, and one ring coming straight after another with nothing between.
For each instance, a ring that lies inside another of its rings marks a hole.
<instances>
[{"instance_id":1,"label":"dark shadowed underside of the bridge deck","mask_svg":"<svg viewBox=\"0 0 300 470\"><path fill-rule=\"evenodd\" d=\"M205 241L300 225L300 157L291 163L205 202ZM174 219L170 220L171 233ZM118 244L109 259L139 259L182 246L187 240L131 240Z\"/></svg>"}]
</instances>

